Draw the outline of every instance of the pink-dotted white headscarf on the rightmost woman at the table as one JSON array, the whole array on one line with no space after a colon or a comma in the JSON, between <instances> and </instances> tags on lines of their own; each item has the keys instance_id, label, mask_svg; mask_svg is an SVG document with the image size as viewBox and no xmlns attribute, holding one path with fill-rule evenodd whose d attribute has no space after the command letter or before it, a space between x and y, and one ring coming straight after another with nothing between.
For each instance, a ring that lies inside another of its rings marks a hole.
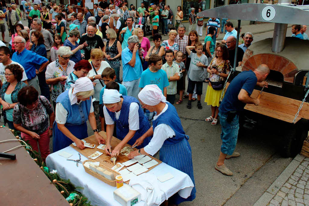
<instances>
[{"instance_id":1,"label":"pink-dotted white headscarf on the rightmost woman at the table","mask_svg":"<svg viewBox=\"0 0 309 206\"><path fill-rule=\"evenodd\" d=\"M139 92L138 98L149 106L155 106L160 102L165 102L166 98L162 94L162 90L156 84L146 85L142 91Z\"/></svg>"}]
</instances>

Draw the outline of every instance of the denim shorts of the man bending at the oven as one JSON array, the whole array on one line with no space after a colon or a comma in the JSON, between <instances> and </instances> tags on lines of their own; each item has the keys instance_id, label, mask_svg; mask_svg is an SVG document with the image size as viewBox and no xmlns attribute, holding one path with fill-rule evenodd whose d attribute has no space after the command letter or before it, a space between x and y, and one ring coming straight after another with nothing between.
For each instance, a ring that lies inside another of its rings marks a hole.
<instances>
[{"instance_id":1,"label":"denim shorts of the man bending at the oven","mask_svg":"<svg viewBox=\"0 0 309 206\"><path fill-rule=\"evenodd\" d=\"M239 117L238 115L235 115L234 119L231 122L226 121L227 113L219 112L219 117L220 117L220 124L222 127L221 152L223 154L232 155L237 143L237 136L239 130Z\"/></svg>"}]
</instances>

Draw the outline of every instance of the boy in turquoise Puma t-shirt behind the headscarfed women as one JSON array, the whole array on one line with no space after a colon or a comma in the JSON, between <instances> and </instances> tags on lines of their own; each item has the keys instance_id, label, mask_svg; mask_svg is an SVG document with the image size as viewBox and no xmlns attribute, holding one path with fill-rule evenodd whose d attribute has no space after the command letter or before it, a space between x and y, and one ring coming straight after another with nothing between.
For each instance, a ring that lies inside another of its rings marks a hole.
<instances>
[{"instance_id":1,"label":"boy in turquoise Puma t-shirt behind the headscarfed women","mask_svg":"<svg viewBox=\"0 0 309 206\"><path fill-rule=\"evenodd\" d=\"M162 90L163 95L166 97L166 87L169 85L169 82L166 72L161 69L162 57L160 57L158 54L153 54L149 57L148 64L150 67L143 71L141 80L139 82L139 87L142 90L146 85L156 84ZM144 109L144 112L148 118L148 121L151 122L155 113L146 109Z\"/></svg>"}]
</instances>

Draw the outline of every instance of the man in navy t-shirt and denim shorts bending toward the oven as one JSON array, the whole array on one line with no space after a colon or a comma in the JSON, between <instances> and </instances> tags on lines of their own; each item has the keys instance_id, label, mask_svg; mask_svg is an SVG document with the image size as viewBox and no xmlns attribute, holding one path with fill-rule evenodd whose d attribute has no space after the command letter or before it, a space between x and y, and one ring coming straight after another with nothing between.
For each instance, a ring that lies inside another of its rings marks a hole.
<instances>
[{"instance_id":1,"label":"man in navy t-shirt and denim shorts bending toward the oven","mask_svg":"<svg viewBox=\"0 0 309 206\"><path fill-rule=\"evenodd\" d=\"M250 97L254 87L268 86L264 80L269 74L269 68L265 64L259 65L256 70L243 71L238 74L226 90L222 103L219 107L221 132L221 152L215 169L222 174L231 176L233 173L224 165L224 160L238 157L240 154L234 152L239 130L238 113L246 104L259 105L260 99Z\"/></svg>"}]
</instances>

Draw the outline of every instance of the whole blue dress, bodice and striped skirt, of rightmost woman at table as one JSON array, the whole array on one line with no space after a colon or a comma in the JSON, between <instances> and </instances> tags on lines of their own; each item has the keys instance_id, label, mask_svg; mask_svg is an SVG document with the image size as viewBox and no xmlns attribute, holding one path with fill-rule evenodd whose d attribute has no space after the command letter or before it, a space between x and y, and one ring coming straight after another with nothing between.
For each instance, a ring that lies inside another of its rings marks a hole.
<instances>
[{"instance_id":1,"label":"whole blue dress, bodice and striped skirt, of rightmost woman at table","mask_svg":"<svg viewBox=\"0 0 309 206\"><path fill-rule=\"evenodd\" d=\"M174 132L175 136L167 138L160 149L160 160L169 166L176 168L191 178L194 186L194 175L192 165L192 153L191 146L188 142L188 135L184 133L180 118L177 114L176 108L168 103L168 108L163 112L156 120L153 121L152 127L155 131L155 127L159 124L167 124ZM193 187L191 195L188 198L180 197L178 193L169 198L169 202L172 204L180 204L184 201L192 201L195 199L196 188Z\"/></svg>"}]
</instances>

